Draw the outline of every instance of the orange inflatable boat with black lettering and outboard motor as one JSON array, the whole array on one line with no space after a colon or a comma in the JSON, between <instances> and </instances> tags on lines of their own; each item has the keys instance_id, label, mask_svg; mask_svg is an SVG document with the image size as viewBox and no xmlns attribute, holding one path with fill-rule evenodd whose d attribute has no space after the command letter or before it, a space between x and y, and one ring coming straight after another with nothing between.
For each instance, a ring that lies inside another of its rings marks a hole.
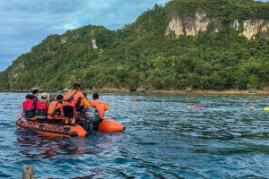
<instances>
[{"instance_id":1,"label":"orange inflatable boat with black lettering and outboard motor","mask_svg":"<svg viewBox=\"0 0 269 179\"><path fill-rule=\"evenodd\" d=\"M16 126L48 136L85 137L93 130L98 132L123 132L126 128L115 120L104 119L98 123L95 108L86 108L77 124L52 124L48 121L30 121L24 115L17 115Z\"/></svg>"}]
</instances>

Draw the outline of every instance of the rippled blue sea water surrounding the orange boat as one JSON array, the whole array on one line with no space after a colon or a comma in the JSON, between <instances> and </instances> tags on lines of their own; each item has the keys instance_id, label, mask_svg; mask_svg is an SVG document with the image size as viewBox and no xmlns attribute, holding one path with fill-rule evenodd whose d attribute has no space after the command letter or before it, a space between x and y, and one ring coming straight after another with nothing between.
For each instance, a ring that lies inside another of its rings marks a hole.
<instances>
[{"instance_id":1,"label":"rippled blue sea water surrounding the orange boat","mask_svg":"<svg viewBox=\"0 0 269 179\"><path fill-rule=\"evenodd\" d=\"M101 94L126 131L65 139L16 129L25 95L0 93L0 178L269 178L269 98Z\"/></svg>"}]
</instances>

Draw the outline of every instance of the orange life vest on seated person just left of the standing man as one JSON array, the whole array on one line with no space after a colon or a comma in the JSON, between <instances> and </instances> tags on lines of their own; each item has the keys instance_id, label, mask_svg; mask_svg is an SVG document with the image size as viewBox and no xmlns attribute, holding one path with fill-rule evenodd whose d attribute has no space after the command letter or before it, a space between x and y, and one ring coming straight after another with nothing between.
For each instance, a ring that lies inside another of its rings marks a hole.
<instances>
[{"instance_id":1,"label":"orange life vest on seated person just left of the standing man","mask_svg":"<svg viewBox=\"0 0 269 179\"><path fill-rule=\"evenodd\" d=\"M64 119L63 105L58 101L52 101L48 106L48 119Z\"/></svg>"}]
</instances>

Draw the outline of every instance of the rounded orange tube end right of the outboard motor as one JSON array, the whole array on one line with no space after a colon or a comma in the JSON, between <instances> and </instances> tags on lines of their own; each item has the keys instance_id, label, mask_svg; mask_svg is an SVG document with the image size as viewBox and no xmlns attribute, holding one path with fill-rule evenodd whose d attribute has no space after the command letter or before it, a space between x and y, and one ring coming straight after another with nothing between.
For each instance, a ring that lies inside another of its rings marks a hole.
<instances>
[{"instance_id":1,"label":"rounded orange tube end right of the outboard motor","mask_svg":"<svg viewBox=\"0 0 269 179\"><path fill-rule=\"evenodd\" d=\"M112 119L104 119L98 127L99 132L123 132L125 129L125 126Z\"/></svg>"}]
</instances>

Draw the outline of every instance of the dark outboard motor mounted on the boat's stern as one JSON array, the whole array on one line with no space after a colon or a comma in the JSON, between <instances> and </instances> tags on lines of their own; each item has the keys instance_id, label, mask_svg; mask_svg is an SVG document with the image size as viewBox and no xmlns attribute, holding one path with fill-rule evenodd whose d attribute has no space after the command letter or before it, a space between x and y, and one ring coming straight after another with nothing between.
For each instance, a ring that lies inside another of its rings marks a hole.
<instances>
[{"instance_id":1,"label":"dark outboard motor mounted on the boat's stern","mask_svg":"<svg viewBox=\"0 0 269 179\"><path fill-rule=\"evenodd\" d=\"M84 121L84 129L86 132L91 134L93 130L93 124L97 124L99 121L97 109L93 107L84 108L82 112L82 119Z\"/></svg>"}]
</instances>

